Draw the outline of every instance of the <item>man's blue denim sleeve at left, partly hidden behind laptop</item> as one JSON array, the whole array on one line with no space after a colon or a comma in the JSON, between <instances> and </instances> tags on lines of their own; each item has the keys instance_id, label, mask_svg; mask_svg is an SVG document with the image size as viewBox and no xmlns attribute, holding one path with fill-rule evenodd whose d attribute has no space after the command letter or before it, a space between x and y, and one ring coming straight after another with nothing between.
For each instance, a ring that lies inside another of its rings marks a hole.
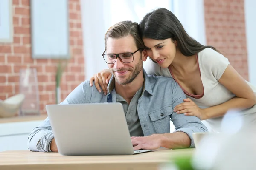
<instances>
[{"instance_id":1,"label":"man's blue denim sleeve at left, partly hidden behind laptop","mask_svg":"<svg viewBox=\"0 0 256 170\"><path fill-rule=\"evenodd\" d=\"M60 103L60 105L86 103L85 95L87 84L86 82L81 83ZM51 152L50 144L53 138L52 127L49 117L47 117L41 125L35 127L30 133L27 142L28 149L38 152Z\"/></svg>"}]
</instances>

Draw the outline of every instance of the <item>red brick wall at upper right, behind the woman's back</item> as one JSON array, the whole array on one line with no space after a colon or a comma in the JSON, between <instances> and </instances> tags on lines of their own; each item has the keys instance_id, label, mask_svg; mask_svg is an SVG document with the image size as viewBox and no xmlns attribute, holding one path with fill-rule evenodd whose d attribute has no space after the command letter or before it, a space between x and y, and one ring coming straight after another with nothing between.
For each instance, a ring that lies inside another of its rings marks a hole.
<instances>
[{"instance_id":1,"label":"red brick wall at upper right, behind the woman's back","mask_svg":"<svg viewBox=\"0 0 256 170\"><path fill-rule=\"evenodd\" d=\"M204 0L207 45L222 51L248 80L244 0Z\"/></svg>"}]
</instances>

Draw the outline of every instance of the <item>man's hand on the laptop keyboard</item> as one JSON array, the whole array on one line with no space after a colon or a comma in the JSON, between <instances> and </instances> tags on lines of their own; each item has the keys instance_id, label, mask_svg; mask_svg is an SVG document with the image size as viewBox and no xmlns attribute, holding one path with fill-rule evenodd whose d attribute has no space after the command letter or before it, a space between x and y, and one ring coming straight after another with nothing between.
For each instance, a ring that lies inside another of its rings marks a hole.
<instances>
[{"instance_id":1,"label":"man's hand on the laptop keyboard","mask_svg":"<svg viewBox=\"0 0 256 170\"><path fill-rule=\"evenodd\" d=\"M131 142L134 150L140 149L158 149L162 144L162 136L160 134L154 134L145 137L131 137Z\"/></svg>"}]
</instances>

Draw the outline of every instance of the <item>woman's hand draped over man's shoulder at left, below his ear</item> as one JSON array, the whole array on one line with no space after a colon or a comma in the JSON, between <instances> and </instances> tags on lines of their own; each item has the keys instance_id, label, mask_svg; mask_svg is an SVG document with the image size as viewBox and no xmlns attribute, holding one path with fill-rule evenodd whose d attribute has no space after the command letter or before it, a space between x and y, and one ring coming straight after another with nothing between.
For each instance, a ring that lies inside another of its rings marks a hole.
<instances>
[{"instance_id":1,"label":"woman's hand draped over man's shoulder at left, below his ear","mask_svg":"<svg viewBox=\"0 0 256 170\"><path fill-rule=\"evenodd\" d=\"M94 85L99 91L99 93L101 93L101 88L102 88L102 91L106 96L108 92L107 91L108 82L111 76L112 76L112 73L109 69L102 70L90 78L90 86L93 86L93 81L94 81Z\"/></svg>"}]
</instances>

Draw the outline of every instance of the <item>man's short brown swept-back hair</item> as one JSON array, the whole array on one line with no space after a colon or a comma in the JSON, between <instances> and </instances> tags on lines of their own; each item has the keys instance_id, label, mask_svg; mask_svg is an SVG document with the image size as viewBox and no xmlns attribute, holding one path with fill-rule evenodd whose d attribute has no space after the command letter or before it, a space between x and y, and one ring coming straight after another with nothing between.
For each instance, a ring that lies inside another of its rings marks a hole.
<instances>
[{"instance_id":1,"label":"man's short brown swept-back hair","mask_svg":"<svg viewBox=\"0 0 256 170\"><path fill-rule=\"evenodd\" d=\"M143 41L139 35L139 24L131 21L121 21L111 26L105 34L105 49L107 48L108 38L122 38L131 35L134 38L137 49L144 49Z\"/></svg>"}]
</instances>

